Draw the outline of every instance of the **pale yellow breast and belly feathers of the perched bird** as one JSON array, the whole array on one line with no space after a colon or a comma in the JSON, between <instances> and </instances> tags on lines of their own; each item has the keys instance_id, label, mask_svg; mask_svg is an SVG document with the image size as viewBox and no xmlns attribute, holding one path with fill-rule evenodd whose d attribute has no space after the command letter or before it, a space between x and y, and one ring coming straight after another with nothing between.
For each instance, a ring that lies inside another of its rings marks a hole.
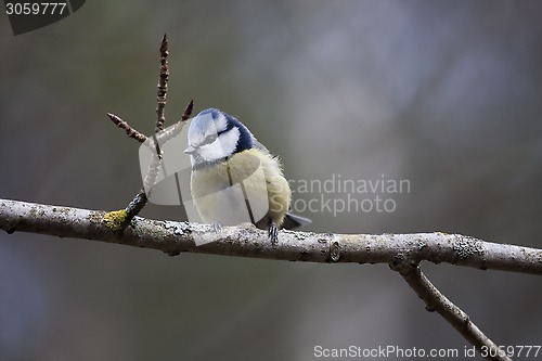
<instances>
[{"instance_id":1,"label":"pale yellow breast and belly feathers of the perched bird","mask_svg":"<svg viewBox=\"0 0 542 361\"><path fill-rule=\"evenodd\" d=\"M278 158L251 149L228 160L192 171L194 204L205 222L253 222L280 227L292 192Z\"/></svg>"}]
</instances>

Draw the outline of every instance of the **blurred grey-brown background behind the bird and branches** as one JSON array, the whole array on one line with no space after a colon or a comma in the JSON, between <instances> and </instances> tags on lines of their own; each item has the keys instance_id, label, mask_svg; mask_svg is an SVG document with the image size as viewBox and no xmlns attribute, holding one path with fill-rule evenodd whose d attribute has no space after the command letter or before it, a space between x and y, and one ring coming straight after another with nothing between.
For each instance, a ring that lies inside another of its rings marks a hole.
<instances>
[{"instance_id":1,"label":"blurred grey-brown background behind the bird and branches","mask_svg":"<svg viewBox=\"0 0 542 361\"><path fill-rule=\"evenodd\" d=\"M0 197L122 208L139 145L105 113L154 129L167 33L169 125L194 99L238 116L292 180L410 181L380 194L392 212L306 211L308 230L541 247L541 16L537 1L88 1L14 37L0 15ZM540 278L423 269L495 343L540 345ZM317 345L467 346L386 265L0 233L0 360L305 361Z\"/></svg>"}]
</instances>

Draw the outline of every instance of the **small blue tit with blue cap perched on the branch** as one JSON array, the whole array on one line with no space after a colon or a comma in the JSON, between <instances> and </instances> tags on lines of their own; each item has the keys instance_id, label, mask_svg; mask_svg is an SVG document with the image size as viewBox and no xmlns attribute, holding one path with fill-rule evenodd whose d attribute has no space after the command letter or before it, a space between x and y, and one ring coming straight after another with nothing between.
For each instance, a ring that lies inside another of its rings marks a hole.
<instances>
[{"instance_id":1,"label":"small blue tit with blue cap perched on the branch","mask_svg":"<svg viewBox=\"0 0 542 361\"><path fill-rule=\"evenodd\" d=\"M196 115L189 127L191 193L204 222L251 222L272 243L280 229L310 220L289 212L292 191L281 163L233 116L218 109Z\"/></svg>"}]
</instances>

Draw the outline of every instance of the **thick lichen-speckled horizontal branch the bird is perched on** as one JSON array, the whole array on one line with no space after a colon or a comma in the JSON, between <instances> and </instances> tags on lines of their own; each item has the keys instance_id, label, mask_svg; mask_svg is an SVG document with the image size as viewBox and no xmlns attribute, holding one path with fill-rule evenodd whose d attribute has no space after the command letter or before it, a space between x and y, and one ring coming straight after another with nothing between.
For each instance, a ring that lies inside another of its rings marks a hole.
<instances>
[{"instance_id":1,"label":"thick lichen-speckled horizontal branch the bird is perched on","mask_svg":"<svg viewBox=\"0 0 542 361\"><path fill-rule=\"evenodd\" d=\"M112 212L0 199L0 229L87 238L153 248L168 255L201 253L307 262L392 263L404 261L472 267L542 275L542 250L480 241L461 234L333 234L281 231L272 247L251 224L224 227L136 217L120 229ZM199 244L199 246L198 246Z\"/></svg>"}]
</instances>

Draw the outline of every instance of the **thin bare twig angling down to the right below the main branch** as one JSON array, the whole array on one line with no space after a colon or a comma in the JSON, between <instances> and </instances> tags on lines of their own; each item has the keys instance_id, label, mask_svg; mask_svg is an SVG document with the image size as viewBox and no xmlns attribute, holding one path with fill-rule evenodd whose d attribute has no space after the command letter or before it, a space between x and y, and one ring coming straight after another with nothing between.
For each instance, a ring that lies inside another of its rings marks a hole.
<instances>
[{"instance_id":1,"label":"thin bare twig angling down to the right below the main branch","mask_svg":"<svg viewBox=\"0 0 542 361\"><path fill-rule=\"evenodd\" d=\"M409 286L425 302L429 312L438 312L467 341L476 347L480 354L487 360L512 361L504 352L500 352L496 346L480 328L478 328L468 314L450 301L437 287L425 276L420 266L408 262L392 262L391 269L396 270L406 281Z\"/></svg>"}]
</instances>

